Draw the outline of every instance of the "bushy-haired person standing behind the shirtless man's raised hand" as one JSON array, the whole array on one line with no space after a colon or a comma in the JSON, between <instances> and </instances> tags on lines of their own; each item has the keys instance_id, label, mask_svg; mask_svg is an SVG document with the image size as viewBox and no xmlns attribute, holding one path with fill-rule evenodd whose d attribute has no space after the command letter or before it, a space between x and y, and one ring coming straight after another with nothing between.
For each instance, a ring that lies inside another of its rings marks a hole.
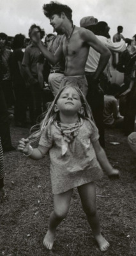
<instances>
[{"instance_id":1,"label":"bushy-haired person standing behind the shirtless man's raised hand","mask_svg":"<svg viewBox=\"0 0 136 256\"><path fill-rule=\"evenodd\" d=\"M31 25L29 28L29 37L33 34L34 29L37 29L40 33L40 39L45 35L44 29L36 24ZM42 42L43 44L43 42ZM40 50L31 42L24 52L24 58L22 60L22 66L25 72L25 81L27 82L27 88L29 90L29 114L31 124L36 124L38 116L42 114L42 95L40 84L38 83L37 63L40 55Z\"/></svg>"}]
</instances>

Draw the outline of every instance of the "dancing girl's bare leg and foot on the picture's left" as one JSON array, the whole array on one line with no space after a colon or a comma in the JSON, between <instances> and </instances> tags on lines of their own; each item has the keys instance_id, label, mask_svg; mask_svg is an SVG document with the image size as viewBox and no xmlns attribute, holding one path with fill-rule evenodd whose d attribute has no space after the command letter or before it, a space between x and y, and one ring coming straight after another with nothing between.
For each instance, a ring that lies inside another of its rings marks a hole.
<instances>
[{"instance_id":1,"label":"dancing girl's bare leg and foot on the picture's left","mask_svg":"<svg viewBox=\"0 0 136 256\"><path fill-rule=\"evenodd\" d=\"M50 214L49 229L43 239L43 244L49 250L52 250L57 226L68 213L72 193L73 189L70 189L64 193L54 195L54 211Z\"/></svg>"}]
</instances>

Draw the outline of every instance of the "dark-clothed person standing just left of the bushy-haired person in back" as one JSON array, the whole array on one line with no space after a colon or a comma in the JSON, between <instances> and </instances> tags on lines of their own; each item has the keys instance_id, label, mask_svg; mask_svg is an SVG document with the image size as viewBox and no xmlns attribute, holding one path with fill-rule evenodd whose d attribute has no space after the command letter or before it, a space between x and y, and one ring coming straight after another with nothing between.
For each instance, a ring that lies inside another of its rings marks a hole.
<instances>
[{"instance_id":1,"label":"dark-clothed person standing just left of the bushy-haired person in back","mask_svg":"<svg viewBox=\"0 0 136 256\"><path fill-rule=\"evenodd\" d=\"M27 109L27 93L26 83L24 81L24 70L22 68L22 59L24 52L22 49L25 47L25 36L17 34L13 38L11 48L13 54L11 56L13 90L15 92L15 125L17 127L26 127L26 109Z\"/></svg>"}]
</instances>

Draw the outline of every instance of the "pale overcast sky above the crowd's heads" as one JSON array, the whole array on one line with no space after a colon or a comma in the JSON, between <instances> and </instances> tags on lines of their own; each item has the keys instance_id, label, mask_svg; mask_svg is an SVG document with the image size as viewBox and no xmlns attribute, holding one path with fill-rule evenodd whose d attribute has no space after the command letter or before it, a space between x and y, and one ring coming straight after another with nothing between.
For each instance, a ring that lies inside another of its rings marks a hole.
<instances>
[{"instance_id":1,"label":"pale overcast sky above the crowd's heads","mask_svg":"<svg viewBox=\"0 0 136 256\"><path fill-rule=\"evenodd\" d=\"M94 16L98 21L105 21L110 27L110 36L117 32L117 26L123 26L123 36L132 38L136 34L135 0L58 0L73 10L73 24L80 26L80 19ZM8 36L18 33L28 37L31 24L52 33L49 19L43 14L46 0L0 0L0 30Z\"/></svg>"}]
</instances>

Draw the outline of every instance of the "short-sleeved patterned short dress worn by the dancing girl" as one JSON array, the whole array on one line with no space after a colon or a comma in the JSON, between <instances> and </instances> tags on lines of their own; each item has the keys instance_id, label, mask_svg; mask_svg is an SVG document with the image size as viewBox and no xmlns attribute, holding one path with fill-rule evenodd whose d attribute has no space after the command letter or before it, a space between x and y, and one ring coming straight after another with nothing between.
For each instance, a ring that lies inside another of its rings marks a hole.
<instances>
[{"instance_id":1,"label":"short-sleeved patterned short dress worn by the dancing girl","mask_svg":"<svg viewBox=\"0 0 136 256\"><path fill-rule=\"evenodd\" d=\"M63 134L56 125L52 123L42 132L39 145L49 148L53 194L64 193L103 177L92 144L99 138L98 129L92 121L82 121L77 136L67 143L68 147L63 154ZM71 124L64 125L70 127Z\"/></svg>"}]
</instances>

